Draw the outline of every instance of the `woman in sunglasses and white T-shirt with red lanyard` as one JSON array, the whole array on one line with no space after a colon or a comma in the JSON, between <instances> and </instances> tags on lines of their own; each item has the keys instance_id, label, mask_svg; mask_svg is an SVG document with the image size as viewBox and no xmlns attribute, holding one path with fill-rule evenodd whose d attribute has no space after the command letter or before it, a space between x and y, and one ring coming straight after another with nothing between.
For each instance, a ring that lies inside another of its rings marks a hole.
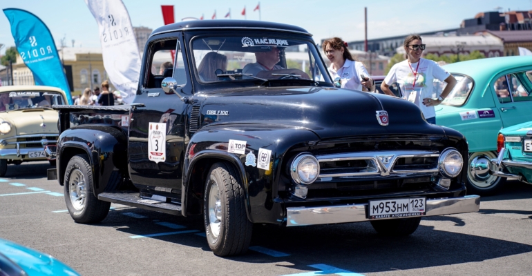
<instances>
[{"instance_id":1,"label":"woman in sunglasses and white T-shirt with red lanyard","mask_svg":"<svg viewBox=\"0 0 532 276\"><path fill-rule=\"evenodd\" d=\"M434 106L444 101L449 92L453 90L456 79L439 67L435 61L421 59L425 44L421 42L419 35L412 34L406 37L403 46L406 51L406 60L392 66L381 84L381 89L386 94L393 96L392 91L388 88L388 83L399 83L399 87L403 91L403 98L419 106L428 123L436 124ZM445 81L447 84L437 99L431 98L434 79Z\"/></svg>"}]
</instances>

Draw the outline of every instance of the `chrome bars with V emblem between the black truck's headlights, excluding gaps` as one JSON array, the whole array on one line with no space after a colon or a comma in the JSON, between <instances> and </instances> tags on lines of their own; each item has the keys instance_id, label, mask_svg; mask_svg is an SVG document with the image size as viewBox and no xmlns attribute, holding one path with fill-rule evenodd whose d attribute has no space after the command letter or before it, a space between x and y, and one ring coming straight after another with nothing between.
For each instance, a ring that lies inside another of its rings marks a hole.
<instances>
[{"instance_id":1,"label":"chrome bars with V emblem between the black truck's headlights, excluding gaps","mask_svg":"<svg viewBox=\"0 0 532 276\"><path fill-rule=\"evenodd\" d=\"M391 157L388 162L383 162L379 157ZM439 152L425 151L425 150L395 150L395 151L371 151L371 152L349 152L338 153L333 155L319 155L316 159L321 162L329 161L347 161L347 160L368 160L377 168L375 172L345 172L337 174L320 174L318 177L356 177L368 175L399 175L405 173L425 173L425 172L439 172L437 164L435 168L428 170L394 170L393 167L399 158L408 157L439 157ZM389 164L386 166L386 164Z\"/></svg>"}]
</instances>

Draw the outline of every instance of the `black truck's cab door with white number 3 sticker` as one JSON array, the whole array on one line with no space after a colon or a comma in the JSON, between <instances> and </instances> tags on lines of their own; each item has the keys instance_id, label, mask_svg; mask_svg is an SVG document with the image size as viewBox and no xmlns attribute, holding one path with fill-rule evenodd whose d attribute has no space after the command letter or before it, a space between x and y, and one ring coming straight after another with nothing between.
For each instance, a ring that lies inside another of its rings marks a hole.
<instances>
[{"instance_id":1,"label":"black truck's cab door with white number 3 sticker","mask_svg":"<svg viewBox=\"0 0 532 276\"><path fill-rule=\"evenodd\" d=\"M191 95L182 33L152 37L144 53L140 91L129 126L129 174L140 189L180 193L184 159L184 122L187 103L174 93L165 94L165 77L178 81L181 97Z\"/></svg>"}]
</instances>

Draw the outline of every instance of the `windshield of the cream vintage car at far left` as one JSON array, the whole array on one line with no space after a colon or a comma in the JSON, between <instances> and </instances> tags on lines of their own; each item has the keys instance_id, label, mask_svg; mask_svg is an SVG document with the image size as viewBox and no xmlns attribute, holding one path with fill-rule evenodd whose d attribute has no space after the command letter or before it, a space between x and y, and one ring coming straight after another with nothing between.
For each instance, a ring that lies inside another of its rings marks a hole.
<instances>
[{"instance_id":1,"label":"windshield of the cream vintage car at far left","mask_svg":"<svg viewBox=\"0 0 532 276\"><path fill-rule=\"evenodd\" d=\"M0 93L0 112L25 108L51 108L65 104L63 95L50 91L7 91Z\"/></svg>"}]
</instances>

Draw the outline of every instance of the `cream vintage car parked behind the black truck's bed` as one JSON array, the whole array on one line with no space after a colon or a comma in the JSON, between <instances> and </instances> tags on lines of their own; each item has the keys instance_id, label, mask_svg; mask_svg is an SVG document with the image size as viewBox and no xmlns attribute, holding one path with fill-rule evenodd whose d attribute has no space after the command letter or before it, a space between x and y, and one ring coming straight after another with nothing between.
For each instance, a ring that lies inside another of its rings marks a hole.
<instances>
[{"instance_id":1,"label":"cream vintage car parked behind the black truck's bed","mask_svg":"<svg viewBox=\"0 0 532 276\"><path fill-rule=\"evenodd\" d=\"M8 164L47 160L44 148L57 143L54 104L66 104L63 90L50 86L0 87L0 177ZM55 160L48 159L51 165Z\"/></svg>"}]
</instances>

